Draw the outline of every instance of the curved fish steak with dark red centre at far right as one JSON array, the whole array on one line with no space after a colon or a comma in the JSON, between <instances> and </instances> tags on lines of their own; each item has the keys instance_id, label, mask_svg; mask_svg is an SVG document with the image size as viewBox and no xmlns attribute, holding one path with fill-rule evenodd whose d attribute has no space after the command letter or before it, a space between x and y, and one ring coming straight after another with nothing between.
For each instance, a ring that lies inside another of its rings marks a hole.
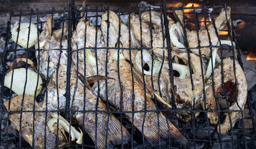
<instances>
[{"instance_id":1,"label":"curved fish steak with dark red centre at far right","mask_svg":"<svg viewBox=\"0 0 256 149\"><path fill-rule=\"evenodd\" d=\"M214 73L208 79L206 88L206 105L204 105L204 102L202 102L202 107L206 107L206 110L212 111L207 112L207 117L211 120L212 124L217 124L217 122L219 121L218 112L216 112L217 109L228 109L229 107L230 111L244 110L245 102L247 100L248 86L244 71L242 70L242 67L239 65L239 62L236 59L234 60L234 58L224 58L224 60L222 60L222 62L220 62L214 68ZM215 97L218 96L226 97L226 100L224 102L225 107L220 107L220 102L216 101ZM227 133L227 131L231 129L230 120L232 122L232 127L234 127L235 122L237 122L241 118L242 112L226 112L225 120L222 124L220 124L220 130L219 125L217 126L218 133Z\"/></svg>"}]
</instances>

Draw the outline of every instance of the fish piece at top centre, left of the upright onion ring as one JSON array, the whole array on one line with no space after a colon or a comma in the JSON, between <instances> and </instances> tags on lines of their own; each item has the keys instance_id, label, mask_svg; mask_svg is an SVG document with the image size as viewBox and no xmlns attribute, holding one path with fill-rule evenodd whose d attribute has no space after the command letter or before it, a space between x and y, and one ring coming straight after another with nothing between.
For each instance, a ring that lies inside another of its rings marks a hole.
<instances>
[{"instance_id":1,"label":"fish piece at top centre, left of the upright onion ring","mask_svg":"<svg viewBox=\"0 0 256 149\"><path fill-rule=\"evenodd\" d=\"M170 17L168 17L168 20L168 27L171 27L175 22ZM164 51L165 57L167 58L166 39L163 40L163 34L165 36L163 22L164 18L161 12L151 10L141 13L140 16L132 13L130 16L130 25L131 37L134 39L131 40L133 45L141 47L142 42L143 46L153 48L154 54L160 58L163 58ZM151 39L153 41L152 43Z\"/></svg>"}]
</instances>

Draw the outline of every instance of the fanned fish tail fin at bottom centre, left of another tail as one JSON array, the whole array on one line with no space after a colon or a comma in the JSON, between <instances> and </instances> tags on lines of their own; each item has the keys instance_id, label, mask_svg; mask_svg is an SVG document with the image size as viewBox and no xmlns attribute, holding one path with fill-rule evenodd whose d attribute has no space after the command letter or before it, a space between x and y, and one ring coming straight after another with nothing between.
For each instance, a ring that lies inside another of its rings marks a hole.
<instances>
[{"instance_id":1,"label":"fanned fish tail fin at bottom centre, left of another tail","mask_svg":"<svg viewBox=\"0 0 256 149\"><path fill-rule=\"evenodd\" d=\"M113 114L110 114L108 129L105 129L106 131L101 131L97 133L97 148L99 149L116 148L118 147L118 145L121 145L122 143L126 144L128 143L128 140L130 140L130 134L128 130L126 130L125 127L122 126L121 131L121 124ZM107 145L106 138L108 139Z\"/></svg>"}]
</instances>

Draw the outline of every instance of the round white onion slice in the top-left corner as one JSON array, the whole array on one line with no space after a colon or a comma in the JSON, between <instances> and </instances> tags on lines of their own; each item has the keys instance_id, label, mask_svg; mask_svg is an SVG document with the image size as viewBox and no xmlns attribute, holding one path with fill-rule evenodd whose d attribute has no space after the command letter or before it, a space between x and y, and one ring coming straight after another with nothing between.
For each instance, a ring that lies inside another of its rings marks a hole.
<instances>
[{"instance_id":1,"label":"round white onion slice in the top-left corner","mask_svg":"<svg viewBox=\"0 0 256 149\"><path fill-rule=\"evenodd\" d=\"M30 30L29 30L30 25ZM17 24L16 26L12 27L11 34L12 34L12 41L17 42L24 48L30 48L34 45L34 42L37 40L37 27L35 24L29 23L22 23L20 25ZM19 38L17 41L17 36L19 32ZM29 45L27 45L27 40L29 40Z\"/></svg>"}]
</instances>

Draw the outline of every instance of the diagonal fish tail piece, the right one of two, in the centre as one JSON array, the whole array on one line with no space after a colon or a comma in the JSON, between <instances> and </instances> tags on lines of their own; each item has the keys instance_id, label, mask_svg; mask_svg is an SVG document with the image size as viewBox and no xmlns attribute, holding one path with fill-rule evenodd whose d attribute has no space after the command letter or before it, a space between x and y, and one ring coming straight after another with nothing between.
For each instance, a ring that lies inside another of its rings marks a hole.
<instances>
[{"instance_id":1,"label":"diagonal fish tail piece, the right one of two, in the centre","mask_svg":"<svg viewBox=\"0 0 256 149\"><path fill-rule=\"evenodd\" d=\"M131 78L131 68L130 64L125 61L119 61L120 65L120 81L121 86L118 80L118 61L114 61L108 67L108 73L111 77L116 78L115 80L108 80L108 101L110 104L114 105L118 110L122 109L125 113L126 117L133 125L140 130L140 132L144 133L145 137L152 143L154 147L158 145L159 138L175 138L182 145L187 146L188 142L186 138L179 132L176 127L174 127L171 122L164 117L163 113L156 112L135 112L135 114L131 114L130 111L133 111L133 102L134 102L134 111L145 111L146 110L156 110L156 105L151 99L146 97L143 89L134 82L134 99L133 99L133 83ZM105 81L100 83L100 96L106 97L105 91ZM123 90L123 98L121 99L121 89ZM97 91L96 91L97 92ZM105 100L105 99L103 99ZM133 101L134 100L134 101ZM145 101L146 100L146 101ZM146 105L145 105L146 102ZM145 121L143 122L143 117L145 117ZM159 117L159 120L158 120ZM159 122L159 129L158 129ZM159 132L158 132L159 130ZM158 135L159 133L159 135Z\"/></svg>"}]
</instances>

